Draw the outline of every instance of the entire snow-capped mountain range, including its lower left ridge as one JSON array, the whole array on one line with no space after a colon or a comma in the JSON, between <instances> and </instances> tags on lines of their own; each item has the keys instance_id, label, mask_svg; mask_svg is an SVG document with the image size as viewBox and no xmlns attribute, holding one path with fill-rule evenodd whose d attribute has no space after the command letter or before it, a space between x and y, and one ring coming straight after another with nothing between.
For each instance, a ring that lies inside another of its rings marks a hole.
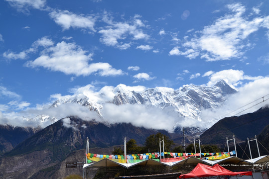
<instances>
[{"instance_id":1,"label":"entire snow-capped mountain range, including its lower left ridge","mask_svg":"<svg viewBox=\"0 0 269 179\"><path fill-rule=\"evenodd\" d=\"M235 93L236 90L221 80L213 87L186 85L176 90L156 87L134 91L126 85L120 84L112 92L114 97L110 100L103 100L103 93L98 93L99 96L96 94L91 96L87 93L67 95L57 99L50 108L59 107L66 103L77 103L102 116L102 109L106 103L115 105L138 104L160 109L170 107L178 113L178 116L200 120L201 109L214 110L221 107L227 95Z\"/></svg>"}]
</instances>

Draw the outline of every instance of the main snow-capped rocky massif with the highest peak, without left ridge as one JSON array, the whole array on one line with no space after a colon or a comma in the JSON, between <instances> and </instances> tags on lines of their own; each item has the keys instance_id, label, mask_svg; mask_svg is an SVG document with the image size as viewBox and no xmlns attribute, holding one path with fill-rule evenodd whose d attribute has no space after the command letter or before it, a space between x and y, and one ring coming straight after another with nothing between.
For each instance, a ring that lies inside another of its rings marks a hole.
<instances>
[{"instance_id":1,"label":"main snow-capped rocky massif with the highest peak, without left ridge","mask_svg":"<svg viewBox=\"0 0 269 179\"><path fill-rule=\"evenodd\" d=\"M159 107L173 107L179 116L200 119L202 108L219 108L226 99L226 95L236 92L225 81L219 81L213 87L188 85L181 89L156 87L141 92L130 91L119 85L115 88L113 103L145 104Z\"/></svg>"}]
</instances>

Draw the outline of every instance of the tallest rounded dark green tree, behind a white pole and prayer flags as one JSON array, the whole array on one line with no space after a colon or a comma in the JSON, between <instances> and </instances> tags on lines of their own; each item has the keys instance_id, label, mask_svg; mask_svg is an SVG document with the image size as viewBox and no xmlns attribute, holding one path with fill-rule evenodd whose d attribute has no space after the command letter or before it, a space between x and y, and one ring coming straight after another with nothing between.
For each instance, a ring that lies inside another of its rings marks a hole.
<instances>
[{"instance_id":1,"label":"tallest rounded dark green tree, behind a white pole and prayer flags","mask_svg":"<svg viewBox=\"0 0 269 179\"><path fill-rule=\"evenodd\" d=\"M171 147L172 145L174 145L174 142L170 140L168 136L163 135L162 133L158 132L157 134L155 135L152 134L146 138L143 152L158 152L159 151L159 138L162 140L162 136L164 140L164 150L171 151ZM162 146L161 146L161 149L162 149Z\"/></svg>"}]
</instances>

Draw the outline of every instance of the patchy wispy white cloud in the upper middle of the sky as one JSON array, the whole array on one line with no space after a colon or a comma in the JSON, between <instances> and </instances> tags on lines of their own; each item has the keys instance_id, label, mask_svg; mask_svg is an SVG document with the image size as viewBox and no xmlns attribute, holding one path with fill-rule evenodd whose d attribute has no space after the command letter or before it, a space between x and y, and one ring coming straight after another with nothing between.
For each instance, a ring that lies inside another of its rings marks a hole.
<instances>
[{"instance_id":1,"label":"patchy wispy white cloud in the upper middle of the sky","mask_svg":"<svg viewBox=\"0 0 269 179\"><path fill-rule=\"evenodd\" d=\"M113 21L107 12L103 16L103 21L108 25L98 32L102 34L100 41L107 46L114 46L120 49L127 49L131 46L131 40L147 39L149 36L143 32L140 27L144 24L140 19L140 16L135 15L134 20L131 22L115 22ZM120 41L120 42L119 42ZM129 41L129 42L124 42ZM122 45L124 44L124 46Z\"/></svg>"}]
</instances>

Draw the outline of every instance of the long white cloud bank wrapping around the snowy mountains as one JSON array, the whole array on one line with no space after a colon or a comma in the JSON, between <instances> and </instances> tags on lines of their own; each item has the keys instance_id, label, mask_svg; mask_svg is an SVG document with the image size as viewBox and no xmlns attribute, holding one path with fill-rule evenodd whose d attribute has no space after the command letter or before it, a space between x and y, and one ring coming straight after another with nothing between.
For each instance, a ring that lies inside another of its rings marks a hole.
<instances>
[{"instance_id":1,"label":"long white cloud bank wrapping around the snowy mountains","mask_svg":"<svg viewBox=\"0 0 269 179\"><path fill-rule=\"evenodd\" d=\"M90 111L89 108L78 103L63 103L58 107L50 107L50 104L45 106L37 105L35 108L28 108L27 106L29 104L27 102L17 100L18 102L10 101L6 105L0 105L0 123L8 123L15 126L34 127L39 125L41 127L46 127L61 118L66 118L72 115L78 116L84 120L95 119L96 121L106 121L107 123L127 122L132 123L134 126L172 131L174 126L208 128L224 117L254 112L260 107L269 104L269 77L255 78L244 76L244 73L238 70L208 72L205 73L204 76L209 78L208 85L211 85L218 78L225 77L225 74L227 73L232 74L231 79L236 79L232 81L229 76L226 76L226 80L228 80L228 82L232 85L241 83L241 86L237 88L238 92L229 96L224 105L215 111L202 109L200 113L200 121L197 119L181 118L174 112L172 107L160 109L157 107L138 104L112 104L110 101L113 100L115 91L118 91L121 88L137 92L146 89L142 86L130 87L121 84L116 88L105 86L102 89L97 89L92 85L87 85L84 87L70 89L69 92L71 92L72 95L51 95L52 102L55 100L63 102L66 98L78 98L79 96L83 99L83 96L88 96L91 103L99 109L102 116L99 116L95 111ZM247 81L247 83L243 83L244 81ZM18 97L16 93L9 91L6 88L1 87L0 89L0 94L2 96L10 98ZM17 112L10 112L11 107L14 111L17 110ZM44 119L43 121L39 120L40 116ZM65 120L67 126L71 125L68 123L68 119Z\"/></svg>"}]
</instances>

